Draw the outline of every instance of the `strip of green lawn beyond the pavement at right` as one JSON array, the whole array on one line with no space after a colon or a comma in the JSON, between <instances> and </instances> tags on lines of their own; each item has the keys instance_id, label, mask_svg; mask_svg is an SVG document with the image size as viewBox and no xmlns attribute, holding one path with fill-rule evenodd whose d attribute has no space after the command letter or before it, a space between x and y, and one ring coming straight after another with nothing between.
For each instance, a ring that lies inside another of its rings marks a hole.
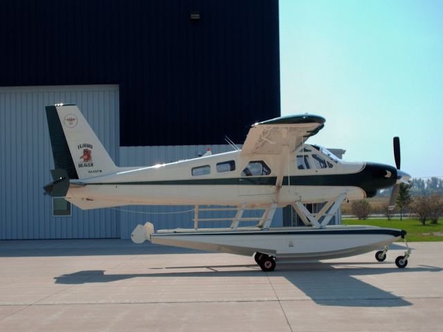
<instances>
[{"instance_id":1,"label":"strip of green lawn beyond the pavement at right","mask_svg":"<svg viewBox=\"0 0 443 332\"><path fill-rule=\"evenodd\" d=\"M398 228L400 230L406 230L406 240L408 242L417 241L443 241L443 224L437 223L431 225L429 221L426 221L426 225L422 225L417 219L343 219L341 221L343 225L372 225L385 228Z\"/></svg>"}]
</instances>

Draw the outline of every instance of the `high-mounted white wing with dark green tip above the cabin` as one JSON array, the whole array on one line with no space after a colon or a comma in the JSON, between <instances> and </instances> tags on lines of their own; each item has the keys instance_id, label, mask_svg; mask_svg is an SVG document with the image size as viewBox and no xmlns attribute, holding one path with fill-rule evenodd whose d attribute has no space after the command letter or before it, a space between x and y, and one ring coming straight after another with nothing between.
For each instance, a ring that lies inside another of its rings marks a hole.
<instances>
[{"instance_id":1,"label":"high-mounted white wing with dark green tip above the cabin","mask_svg":"<svg viewBox=\"0 0 443 332\"><path fill-rule=\"evenodd\" d=\"M253 124L244 141L242 154L280 154L285 145L289 151L294 151L307 138L318 133L325 121L321 116L302 114Z\"/></svg>"}]
</instances>

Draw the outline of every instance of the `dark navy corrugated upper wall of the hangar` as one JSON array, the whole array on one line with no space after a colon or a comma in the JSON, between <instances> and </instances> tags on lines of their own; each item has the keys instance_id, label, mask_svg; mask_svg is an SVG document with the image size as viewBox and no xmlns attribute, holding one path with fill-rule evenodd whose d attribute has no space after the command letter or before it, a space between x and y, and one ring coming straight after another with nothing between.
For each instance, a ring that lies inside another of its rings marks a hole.
<instances>
[{"instance_id":1,"label":"dark navy corrugated upper wall of the hangar","mask_svg":"<svg viewBox=\"0 0 443 332\"><path fill-rule=\"evenodd\" d=\"M278 0L7 0L0 40L0 86L120 84L123 146L242 142L280 115Z\"/></svg>"}]
</instances>

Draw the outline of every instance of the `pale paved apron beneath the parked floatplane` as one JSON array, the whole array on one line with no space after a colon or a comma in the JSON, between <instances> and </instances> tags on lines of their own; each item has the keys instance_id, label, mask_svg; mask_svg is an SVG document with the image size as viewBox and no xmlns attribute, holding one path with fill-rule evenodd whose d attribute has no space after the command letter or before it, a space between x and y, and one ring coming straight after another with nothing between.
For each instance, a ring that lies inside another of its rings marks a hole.
<instances>
[{"instance_id":1,"label":"pale paved apron beneath the parked floatplane","mask_svg":"<svg viewBox=\"0 0 443 332\"><path fill-rule=\"evenodd\" d=\"M0 241L0 331L443 331L443 242L277 264L130 241Z\"/></svg>"}]
</instances>

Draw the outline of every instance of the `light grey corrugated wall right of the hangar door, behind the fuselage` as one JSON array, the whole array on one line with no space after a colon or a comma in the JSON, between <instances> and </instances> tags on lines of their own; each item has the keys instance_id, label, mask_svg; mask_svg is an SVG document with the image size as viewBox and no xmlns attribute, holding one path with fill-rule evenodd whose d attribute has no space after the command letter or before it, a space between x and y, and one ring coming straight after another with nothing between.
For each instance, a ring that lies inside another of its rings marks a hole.
<instances>
[{"instance_id":1,"label":"light grey corrugated wall right of the hangar door, behind the fuselage","mask_svg":"<svg viewBox=\"0 0 443 332\"><path fill-rule=\"evenodd\" d=\"M120 166L149 166L158 163L170 163L177 160L196 158L204 154L210 147L213 154L232 151L229 145L192 145L174 147L120 147ZM129 239L138 224L147 221L154 223L156 229L164 228L192 228L194 227L194 212L180 213L192 210L194 206L179 205L147 205L118 208L120 210L120 234L122 239ZM235 212L202 212L200 218L233 217ZM247 211L244 216L261 216L260 211ZM241 225L254 225L256 222L244 222ZM202 221L200 227L217 228L227 227L229 221ZM275 212L273 227L282 226L282 209Z\"/></svg>"}]
</instances>

